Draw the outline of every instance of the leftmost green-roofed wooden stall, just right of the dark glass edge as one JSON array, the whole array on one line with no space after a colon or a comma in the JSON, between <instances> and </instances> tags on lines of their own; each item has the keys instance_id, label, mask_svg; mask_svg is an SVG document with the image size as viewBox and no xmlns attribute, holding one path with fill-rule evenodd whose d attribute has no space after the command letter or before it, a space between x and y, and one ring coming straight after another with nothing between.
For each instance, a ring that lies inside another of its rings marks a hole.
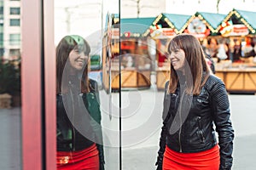
<instances>
[{"instance_id":1,"label":"leftmost green-roofed wooden stall, just right of the dark glass edge","mask_svg":"<svg viewBox=\"0 0 256 170\"><path fill-rule=\"evenodd\" d=\"M147 37L154 18L121 19L121 86L150 88L151 58Z\"/></svg>"}]
</instances>

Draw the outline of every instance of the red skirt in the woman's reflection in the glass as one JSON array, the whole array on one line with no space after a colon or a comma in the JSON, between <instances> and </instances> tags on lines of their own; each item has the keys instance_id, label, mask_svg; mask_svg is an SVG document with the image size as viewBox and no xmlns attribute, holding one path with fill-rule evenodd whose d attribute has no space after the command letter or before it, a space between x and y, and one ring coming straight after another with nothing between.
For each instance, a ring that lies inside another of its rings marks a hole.
<instances>
[{"instance_id":1,"label":"red skirt in the woman's reflection in the glass","mask_svg":"<svg viewBox=\"0 0 256 170\"><path fill-rule=\"evenodd\" d=\"M99 152L96 144L79 151L57 151L57 169L61 170L99 170Z\"/></svg>"}]
</instances>

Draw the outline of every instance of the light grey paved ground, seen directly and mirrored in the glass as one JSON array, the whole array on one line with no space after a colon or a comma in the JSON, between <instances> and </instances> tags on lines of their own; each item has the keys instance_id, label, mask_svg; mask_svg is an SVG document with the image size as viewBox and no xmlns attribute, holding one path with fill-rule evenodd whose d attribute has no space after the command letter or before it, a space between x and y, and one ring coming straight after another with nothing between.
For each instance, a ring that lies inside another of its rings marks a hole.
<instances>
[{"instance_id":1,"label":"light grey paved ground, seen directly and mirrored in the glass","mask_svg":"<svg viewBox=\"0 0 256 170\"><path fill-rule=\"evenodd\" d=\"M160 137L160 114L162 92L153 89L122 92L122 116L124 130L122 144L122 166L125 170L154 170L158 141ZM109 96L102 92L102 109L108 107ZM118 94L113 94L112 104L116 105ZM256 96L230 94L231 119L235 128L234 170L254 170L256 158ZM113 115L116 106L113 108ZM102 111L104 112L104 111ZM115 116L115 115L114 115ZM105 127L118 129L118 121L104 114ZM149 126L150 125L150 126ZM0 169L20 168L20 109L0 110ZM142 136L142 138L139 138ZM118 136L112 138L118 140ZM118 142L117 142L118 143ZM108 147L106 170L119 169L118 148Z\"/></svg>"}]
</instances>

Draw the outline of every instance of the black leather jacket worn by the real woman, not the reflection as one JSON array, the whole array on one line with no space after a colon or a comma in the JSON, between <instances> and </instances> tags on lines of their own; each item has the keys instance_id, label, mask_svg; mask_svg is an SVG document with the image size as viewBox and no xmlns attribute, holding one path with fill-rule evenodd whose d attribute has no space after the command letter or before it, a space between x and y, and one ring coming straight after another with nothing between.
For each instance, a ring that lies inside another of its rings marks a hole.
<instances>
[{"instance_id":1,"label":"black leather jacket worn by the real woman, not the reflection","mask_svg":"<svg viewBox=\"0 0 256 170\"><path fill-rule=\"evenodd\" d=\"M167 85L168 82L166 88ZM180 91L178 87L175 94L165 93L164 125L157 164L161 166L166 144L172 150L192 153L209 150L218 143L219 169L230 169L233 161L234 130L230 122L230 104L224 83L218 77L211 75L201 89L201 94L189 98ZM181 108L178 107L181 98L183 98L184 111L180 111ZM218 142L214 125L218 132Z\"/></svg>"}]
</instances>

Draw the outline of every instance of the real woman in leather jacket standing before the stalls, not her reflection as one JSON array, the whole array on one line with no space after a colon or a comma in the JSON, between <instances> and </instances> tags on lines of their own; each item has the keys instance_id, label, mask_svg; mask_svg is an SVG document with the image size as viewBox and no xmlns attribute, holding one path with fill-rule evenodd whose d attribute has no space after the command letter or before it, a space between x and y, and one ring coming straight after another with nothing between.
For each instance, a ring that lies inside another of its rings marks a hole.
<instances>
[{"instance_id":1,"label":"real woman in leather jacket standing before the stalls, not her reflection","mask_svg":"<svg viewBox=\"0 0 256 170\"><path fill-rule=\"evenodd\" d=\"M234 130L224 82L211 74L196 37L177 35L167 50L171 76L166 82L157 169L231 169Z\"/></svg>"}]
</instances>

